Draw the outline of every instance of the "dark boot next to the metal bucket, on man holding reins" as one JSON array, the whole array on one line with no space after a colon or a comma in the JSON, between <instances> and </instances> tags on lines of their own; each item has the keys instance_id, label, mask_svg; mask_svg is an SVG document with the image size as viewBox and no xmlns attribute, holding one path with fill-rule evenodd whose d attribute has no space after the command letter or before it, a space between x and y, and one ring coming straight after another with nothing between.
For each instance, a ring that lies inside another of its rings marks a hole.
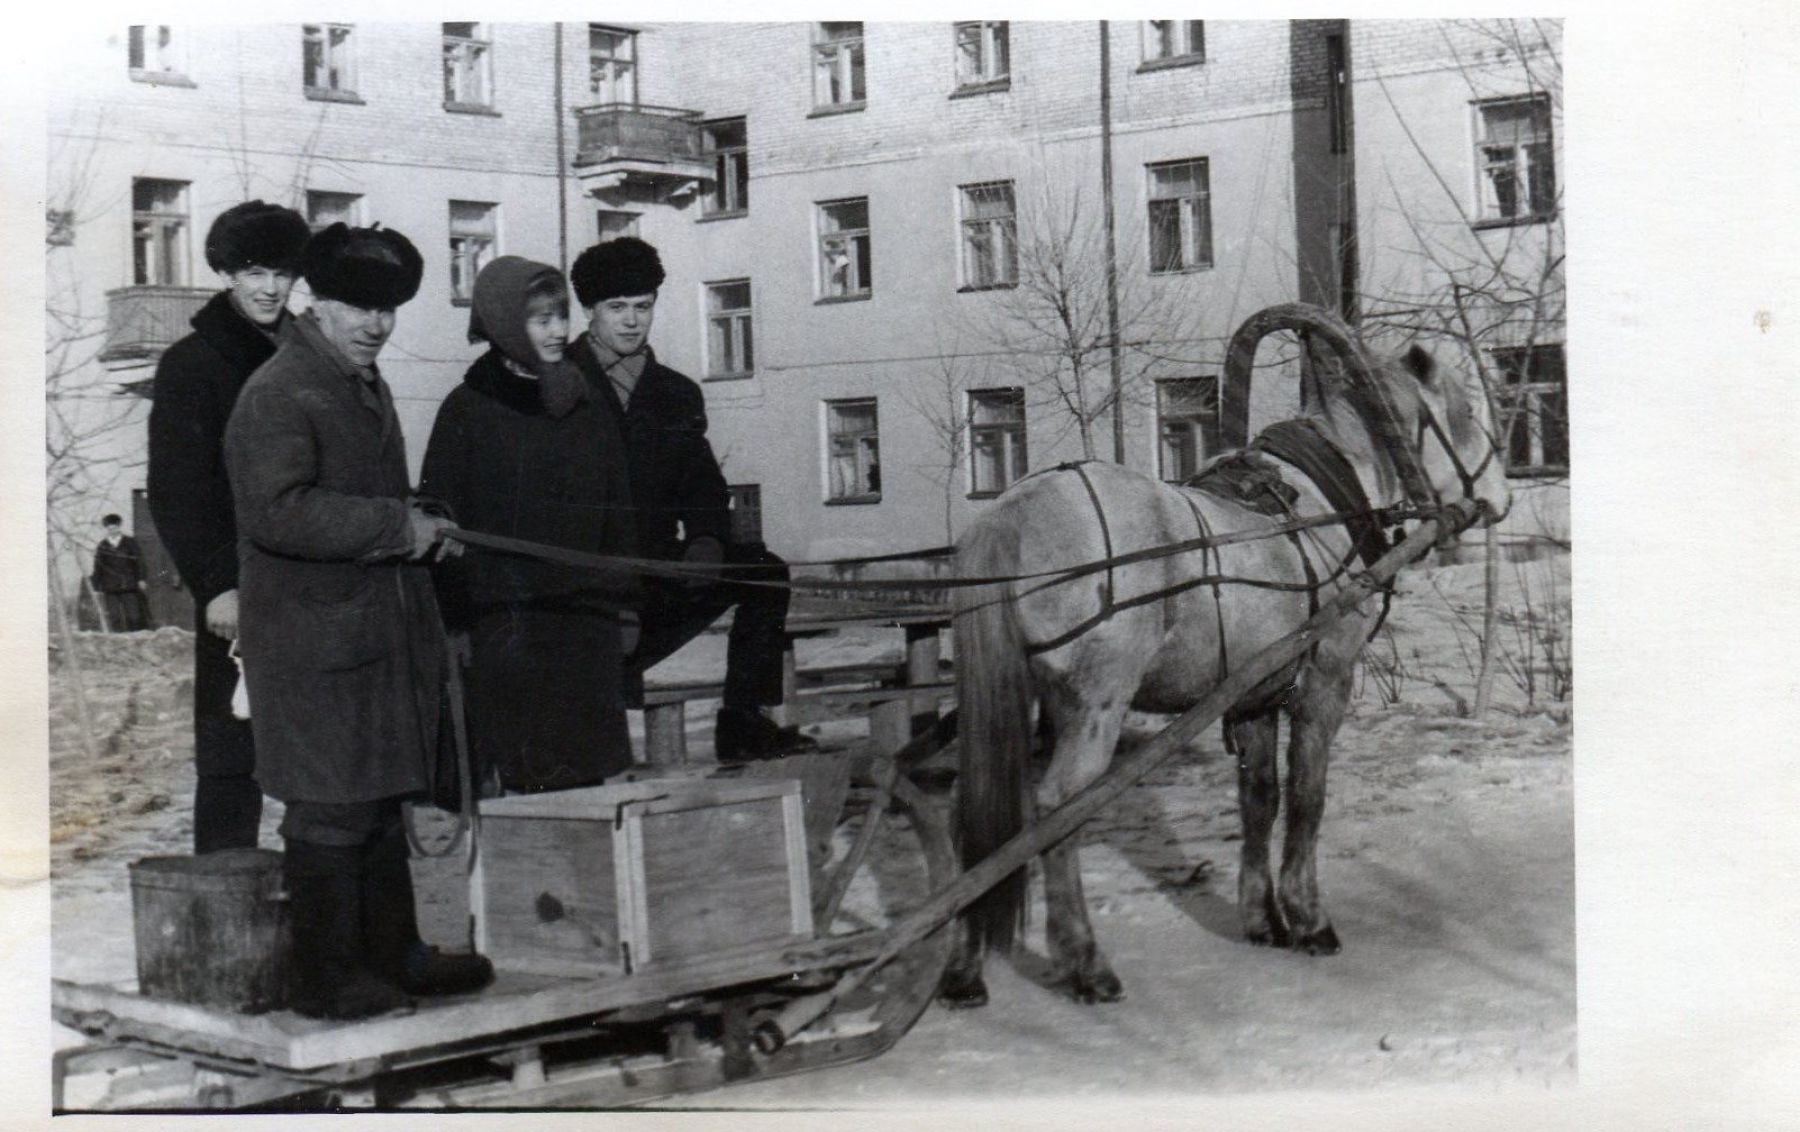
<instances>
[{"instance_id":1,"label":"dark boot next to the metal bucket, on man holding reins","mask_svg":"<svg viewBox=\"0 0 1800 1132\"><path fill-rule=\"evenodd\" d=\"M360 860L360 848L286 842L290 1006L308 1019L367 1019L412 1008L400 986L364 963Z\"/></svg>"}]
</instances>

